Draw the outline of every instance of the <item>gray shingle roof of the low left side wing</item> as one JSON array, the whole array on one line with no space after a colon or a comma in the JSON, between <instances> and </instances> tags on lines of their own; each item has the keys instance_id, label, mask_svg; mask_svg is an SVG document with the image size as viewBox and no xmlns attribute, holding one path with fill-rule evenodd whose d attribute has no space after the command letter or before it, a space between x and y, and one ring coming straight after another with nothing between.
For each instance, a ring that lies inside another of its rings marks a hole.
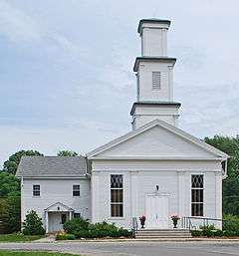
<instances>
[{"instance_id":1,"label":"gray shingle roof of the low left side wing","mask_svg":"<svg viewBox=\"0 0 239 256\"><path fill-rule=\"evenodd\" d=\"M84 156L22 156L16 176L83 176L86 168Z\"/></svg>"}]
</instances>

